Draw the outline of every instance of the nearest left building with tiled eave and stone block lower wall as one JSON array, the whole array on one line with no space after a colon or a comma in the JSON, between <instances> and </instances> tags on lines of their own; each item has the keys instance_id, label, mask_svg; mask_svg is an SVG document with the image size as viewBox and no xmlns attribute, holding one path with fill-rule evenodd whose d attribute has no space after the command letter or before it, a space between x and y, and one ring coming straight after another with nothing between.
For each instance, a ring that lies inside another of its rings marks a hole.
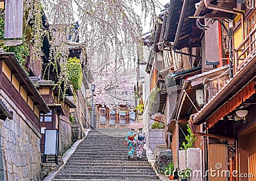
<instances>
[{"instance_id":1,"label":"nearest left building with tiled eave and stone block lower wall","mask_svg":"<svg viewBox=\"0 0 256 181\"><path fill-rule=\"evenodd\" d=\"M13 53L0 53L1 180L40 180L40 115L50 112Z\"/></svg>"}]
</instances>

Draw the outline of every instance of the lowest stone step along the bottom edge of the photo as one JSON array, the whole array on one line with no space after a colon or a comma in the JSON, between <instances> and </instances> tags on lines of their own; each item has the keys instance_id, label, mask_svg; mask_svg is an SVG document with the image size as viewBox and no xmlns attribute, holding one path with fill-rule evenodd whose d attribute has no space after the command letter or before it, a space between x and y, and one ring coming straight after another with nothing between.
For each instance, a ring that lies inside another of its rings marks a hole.
<instances>
[{"instance_id":1,"label":"lowest stone step along the bottom edge of the photo","mask_svg":"<svg viewBox=\"0 0 256 181\"><path fill-rule=\"evenodd\" d=\"M56 178L67 178L67 179L120 179L120 180L150 180L150 179L157 179L158 177L156 175L143 175L136 173L136 175L124 175L124 174L110 174L110 175L104 175L104 174L98 174L98 173L78 173L78 174L70 174L70 173L61 173L56 175Z\"/></svg>"}]
</instances>

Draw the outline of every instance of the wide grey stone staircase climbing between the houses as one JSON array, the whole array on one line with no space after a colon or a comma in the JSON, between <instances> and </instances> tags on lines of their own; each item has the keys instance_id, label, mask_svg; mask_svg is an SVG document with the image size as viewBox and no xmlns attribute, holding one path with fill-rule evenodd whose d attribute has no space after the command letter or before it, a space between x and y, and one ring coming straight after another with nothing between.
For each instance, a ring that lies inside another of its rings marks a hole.
<instances>
[{"instance_id":1,"label":"wide grey stone staircase climbing between the houses","mask_svg":"<svg viewBox=\"0 0 256 181\"><path fill-rule=\"evenodd\" d=\"M145 153L128 160L124 140L129 130L92 129L53 180L159 180Z\"/></svg>"}]
</instances>

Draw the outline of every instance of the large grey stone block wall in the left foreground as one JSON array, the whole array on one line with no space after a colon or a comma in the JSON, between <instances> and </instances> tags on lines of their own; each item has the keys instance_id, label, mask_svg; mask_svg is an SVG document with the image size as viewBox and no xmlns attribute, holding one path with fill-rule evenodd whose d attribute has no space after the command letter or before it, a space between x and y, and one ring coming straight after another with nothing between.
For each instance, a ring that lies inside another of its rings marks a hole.
<instances>
[{"instance_id":1,"label":"large grey stone block wall in the left foreground","mask_svg":"<svg viewBox=\"0 0 256 181\"><path fill-rule=\"evenodd\" d=\"M0 180L41 180L41 134L1 90L0 98L13 110L13 119L0 119Z\"/></svg>"}]
</instances>

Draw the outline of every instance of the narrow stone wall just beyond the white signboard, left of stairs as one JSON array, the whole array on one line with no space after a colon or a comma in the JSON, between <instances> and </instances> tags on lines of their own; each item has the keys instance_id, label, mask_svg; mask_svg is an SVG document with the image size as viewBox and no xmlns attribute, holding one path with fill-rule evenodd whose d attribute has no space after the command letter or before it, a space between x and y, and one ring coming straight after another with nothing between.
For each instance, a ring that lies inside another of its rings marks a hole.
<instances>
[{"instance_id":1,"label":"narrow stone wall just beyond the white signboard, left of stairs","mask_svg":"<svg viewBox=\"0 0 256 181\"><path fill-rule=\"evenodd\" d=\"M59 155L62 156L72 145L72 126L70 121L60 119Z\"/></svg>"}]
</instances>

